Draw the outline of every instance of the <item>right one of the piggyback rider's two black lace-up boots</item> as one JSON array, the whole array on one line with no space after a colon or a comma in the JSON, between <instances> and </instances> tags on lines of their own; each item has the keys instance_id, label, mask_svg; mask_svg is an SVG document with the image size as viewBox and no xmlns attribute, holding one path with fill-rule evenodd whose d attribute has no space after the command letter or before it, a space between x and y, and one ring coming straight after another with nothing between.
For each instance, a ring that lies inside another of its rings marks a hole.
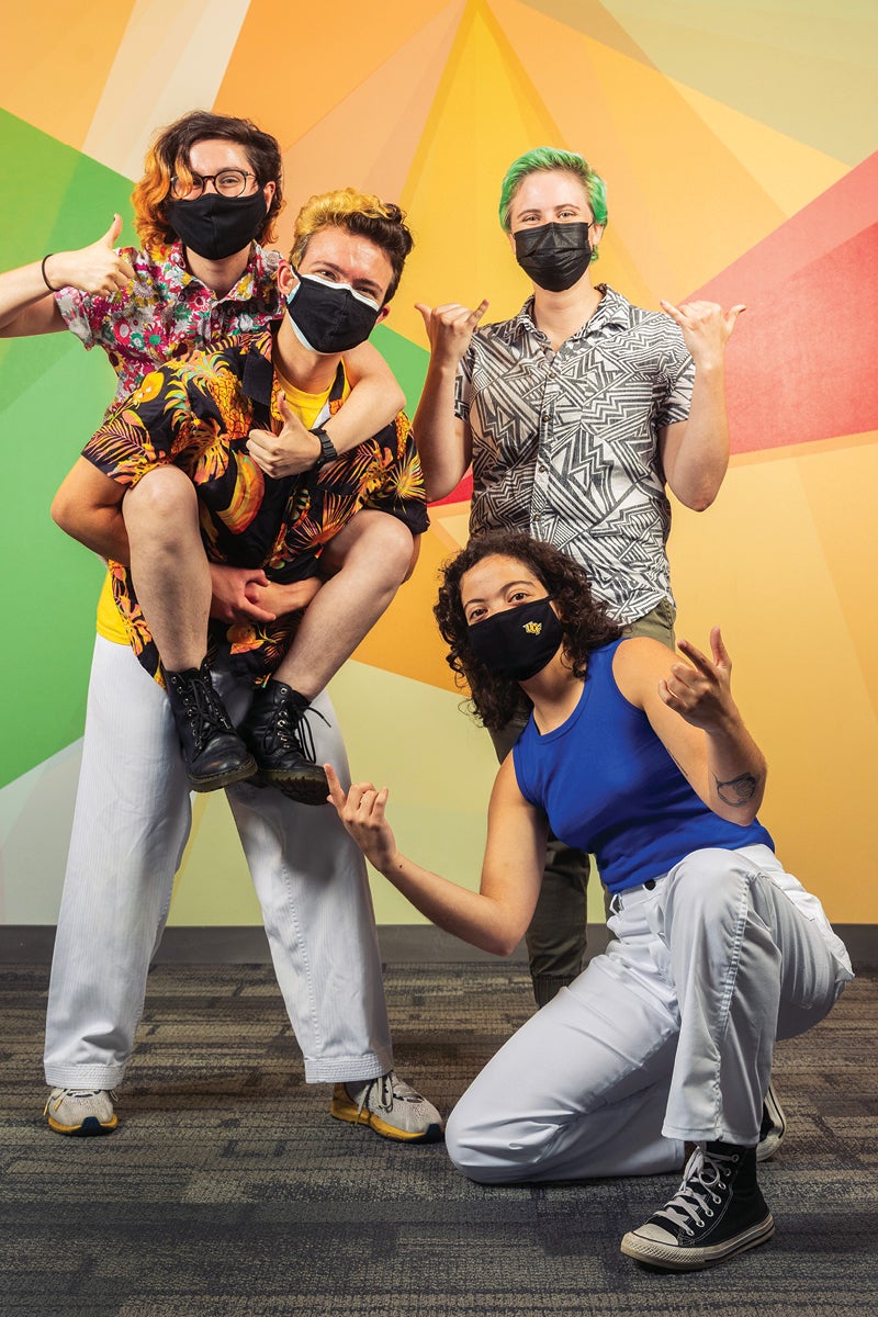
<instances>
[{"instance_id":1,"label":"right one of the piggyback rider's two black lace-up boots","mask_svg":"<svg viewBox=\"0 0 878 1317\"><path fill-rule=\"evenodd\" d=\"M315 761L313 736L305 716L309 709L305 697L292 686L269 681L253 697L241 735L257 761L261 782L276 786L301 805L325 805L329 784Z\"/></svg>"}]
</instances>

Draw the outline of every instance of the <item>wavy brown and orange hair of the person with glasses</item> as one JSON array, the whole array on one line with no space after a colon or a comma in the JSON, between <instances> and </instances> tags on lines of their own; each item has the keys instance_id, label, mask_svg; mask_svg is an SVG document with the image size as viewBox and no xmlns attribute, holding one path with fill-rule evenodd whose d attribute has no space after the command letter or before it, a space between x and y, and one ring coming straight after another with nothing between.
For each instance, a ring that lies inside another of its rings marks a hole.
<instances>
[{"instance_id":1,"label":"wavy brown and orange hair of the person with glasses","mask_svg":"<svg viewBox=\"0 0 878 1317\"><path fill-rule=\"evenodd\" d=\"M275 184L269 213L258 233L259 242L274 240L274 221L283 208L283 166L276 137L263 133L249 119L232 115L213 115L207 109L194 109L182 119L159 129L143 162L143 176L134 184L132 205L134 228L143 248L165 246L176 237L167 219L171 179L179 175L191 179L190 151L196 142L219 137L244 148L258 187Z\"/></svg>"}]
</instances>

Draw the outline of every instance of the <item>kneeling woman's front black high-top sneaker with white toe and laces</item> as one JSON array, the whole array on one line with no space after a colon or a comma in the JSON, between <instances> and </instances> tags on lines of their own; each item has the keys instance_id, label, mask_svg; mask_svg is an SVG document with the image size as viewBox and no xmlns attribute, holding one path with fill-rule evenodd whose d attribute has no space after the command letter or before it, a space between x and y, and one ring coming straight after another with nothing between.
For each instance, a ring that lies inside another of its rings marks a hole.
<instances>
[{"instance_id":1,"label":"kneeling woman's front black high-top sneaker with white toe and laces","mask_svg":"<svg viewBox=\"0 0 878 1317\"><path fill-rule=\"evenodd\" d=\"M695 1148L674 1197L621 1251L669 1271L715 1267L774 1234L774 1221L756 1183L756 1148L707 1143Z\"/></svg>"}]
</instances>

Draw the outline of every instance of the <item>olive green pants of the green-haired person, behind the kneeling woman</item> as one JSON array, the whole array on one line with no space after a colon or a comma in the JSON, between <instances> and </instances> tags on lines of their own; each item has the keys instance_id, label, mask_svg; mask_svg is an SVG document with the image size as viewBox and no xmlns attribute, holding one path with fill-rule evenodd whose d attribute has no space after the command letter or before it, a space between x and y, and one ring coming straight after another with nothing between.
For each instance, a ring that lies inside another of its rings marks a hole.
<instances>
[{"instance_id":1,"label":"olive green pants of the green-haired person, behind the kneeling woman","mask_svg":"<svg viewBox=\"0 0 878 1317\"><path fill-rule=\"evenodd\" d=\"M625 627L627 636L650 636L674 649L675 611L662 599L652 612ZM500 763L521 735L525 718L513 719L491 740ZM549 832L540 900L527 932L530 979L537 1006L582 973L586 961L586 893L590 860L584 851L565 846Z\"/></svg>"}]
</instances>

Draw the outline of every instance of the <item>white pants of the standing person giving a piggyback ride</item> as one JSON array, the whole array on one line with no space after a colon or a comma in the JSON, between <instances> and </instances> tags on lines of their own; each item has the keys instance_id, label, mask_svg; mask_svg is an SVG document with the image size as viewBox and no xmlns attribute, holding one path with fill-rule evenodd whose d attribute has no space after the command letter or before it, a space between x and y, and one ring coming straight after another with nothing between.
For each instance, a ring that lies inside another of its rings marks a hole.
<instances>
[{"instance_id":1,"label":"white pants of the standing person giving a piggyback ride","mask_svg":"<svg viewBox=\"0 0 878 1317\"><path fill-rule=\"evenodd\" d=\"M234 722L253 687L216 686ZM325 694L309 719L320 763L348 760ZM359 848L330 805L274 788L228 790L309 1083L392 1067L375 917ZM46 1019L49 1084L112 1088L143 1010L146 975L191 826L190 789L165 691L128 645L97 637L82 770Z\"/></svg>"}]
</instances>

